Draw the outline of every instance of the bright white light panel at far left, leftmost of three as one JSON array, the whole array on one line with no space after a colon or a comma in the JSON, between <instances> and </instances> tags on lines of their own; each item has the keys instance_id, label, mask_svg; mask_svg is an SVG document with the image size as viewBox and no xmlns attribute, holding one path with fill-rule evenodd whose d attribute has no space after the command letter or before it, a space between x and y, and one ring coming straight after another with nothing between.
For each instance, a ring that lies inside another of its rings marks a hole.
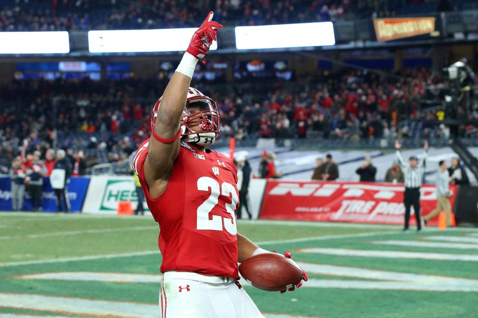
<instances>
[{"instance_id":1,"label":"bright white light panel at far left, leftmost of three","mask_svg":"<svg viewBox=\"0 0 478 318\"><path fill-rule=\"evenodd\" d=\"M70 38L66 31L0 32L0 43L0 54L70 52Z\"/></svg>"}]
</instances>

